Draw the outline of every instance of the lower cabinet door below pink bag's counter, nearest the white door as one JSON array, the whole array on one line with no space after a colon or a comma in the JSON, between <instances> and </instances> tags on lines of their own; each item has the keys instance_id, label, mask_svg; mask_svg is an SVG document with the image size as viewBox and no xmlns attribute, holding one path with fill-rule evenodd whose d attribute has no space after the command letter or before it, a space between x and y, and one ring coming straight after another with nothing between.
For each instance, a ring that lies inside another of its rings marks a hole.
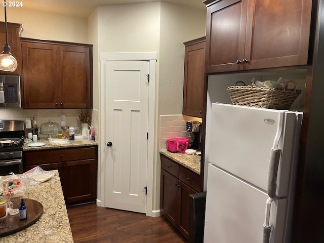
<instances>
[{"instance_id":1,"label":"lower cabinet door below pink bag's counter, nearest the white door","mask_svg":"<svg viewBox=\"0 0 324 243\"><path fill-rule=\"evenodd\" d=\"M165 170L161 170L160 210L161 215L177 227L179 217L179 181Z\"/></svg>"}]
</instances>

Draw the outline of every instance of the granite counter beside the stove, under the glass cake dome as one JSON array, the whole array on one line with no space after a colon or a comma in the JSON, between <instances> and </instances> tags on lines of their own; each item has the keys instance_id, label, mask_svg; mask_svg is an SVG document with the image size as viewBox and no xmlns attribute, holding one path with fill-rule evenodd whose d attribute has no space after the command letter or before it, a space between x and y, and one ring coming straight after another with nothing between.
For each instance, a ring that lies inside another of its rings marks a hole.
<instances>
[{"instance_id":1,"label":"granite counter beside the stove, under the glass cake dome","mask_svg":"<svg viewBox=\"0 0 324 243\"><path fill-rule=\"evenodd\" d=\"M25 142L23 151L53 149L53 148L72 148L72 147L98 145L97 141L92 141L92 140L88 140L88 139L75 139L75 140L67 140L66 139L66 141L68 141L67 144L58 145L58 144L52 144L47 138L41 138L41 139L38 139L37 142L44 142L44 143L46 143L46 145L41 146L41 147L29 147L28 142Z\"/></svg>"}]
</instances>

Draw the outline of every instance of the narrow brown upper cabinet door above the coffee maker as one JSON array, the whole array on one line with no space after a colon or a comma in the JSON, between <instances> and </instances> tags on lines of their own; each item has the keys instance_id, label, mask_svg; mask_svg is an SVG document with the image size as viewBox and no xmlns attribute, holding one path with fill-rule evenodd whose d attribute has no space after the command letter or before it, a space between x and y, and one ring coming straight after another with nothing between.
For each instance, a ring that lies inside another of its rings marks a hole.
<instances>
[{"instance_id":1,"label":"narrow brown upper cabinet door above the coffee maker","mask_svg":"<svg viewBox=\"0 0 324 243\"><path fill-rule=\"evenodd\" d=\"M185 47L183 110L184 115L203 117L205 41Z\"/></svg>"}]
</instances>

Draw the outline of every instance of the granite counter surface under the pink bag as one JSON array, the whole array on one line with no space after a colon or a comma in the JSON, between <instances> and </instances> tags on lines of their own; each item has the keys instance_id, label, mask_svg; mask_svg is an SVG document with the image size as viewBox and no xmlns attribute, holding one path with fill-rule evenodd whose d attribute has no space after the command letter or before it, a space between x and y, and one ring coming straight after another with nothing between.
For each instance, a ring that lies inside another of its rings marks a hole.
<instances>
[{"instance_id":1,"label":"granite counter surface under the pink bag","mask_svg":"<svg viewBox=\"0 0 324 243\"><path fill-rule=\"evenodd\" d=\"M167 149L161 149L160 153L174 160L176 163L184 166L185 168L193 171L194 173L200 175L199 159L201 158L201 156L186 153L172 153Z\"/></svg>"}]
</instances>

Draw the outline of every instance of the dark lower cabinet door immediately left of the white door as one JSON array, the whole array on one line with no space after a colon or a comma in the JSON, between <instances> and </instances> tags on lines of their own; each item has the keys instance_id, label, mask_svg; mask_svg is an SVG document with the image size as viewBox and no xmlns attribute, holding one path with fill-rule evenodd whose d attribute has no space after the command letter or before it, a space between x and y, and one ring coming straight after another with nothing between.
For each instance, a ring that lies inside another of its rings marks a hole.
<instances>
[{"instance_id":1,"label":"dark lower cabinet door immediately left of the white door","mask_svg":"<svg viewBox=\"0 0 324 243\"><path fill-rule=\"evenodd\" d=\"M97 197L97 161L86 159L62 164L62 186L66 204L94 201Z\"/></svg>"}]
</instances>

